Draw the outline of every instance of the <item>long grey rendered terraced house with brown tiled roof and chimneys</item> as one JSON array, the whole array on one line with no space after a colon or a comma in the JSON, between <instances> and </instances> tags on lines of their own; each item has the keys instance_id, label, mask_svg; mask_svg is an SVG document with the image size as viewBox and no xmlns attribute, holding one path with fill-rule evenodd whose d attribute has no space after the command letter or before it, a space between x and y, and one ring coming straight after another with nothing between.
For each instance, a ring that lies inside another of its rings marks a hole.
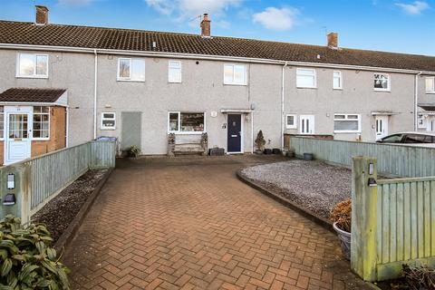
<instances>
[{"instance_id":1,"label":"long grey rendered terraced house with brown tiled roof and chimneys","mask_svg":"<svg viewBox=\"0 0 435 290\"><path fill-rule=\"evenodd\" d=\"M282 148L285 134L373 141L435 131L435 57L200 34L0 21L5 163L98 136L166 154ZM173 140L172 140L173 141ZM204 147L204 142L201 143ZM189 146L190 146L189 145ZM202 148L204 149L204 148Z\"/></svg>"}]
</instances>

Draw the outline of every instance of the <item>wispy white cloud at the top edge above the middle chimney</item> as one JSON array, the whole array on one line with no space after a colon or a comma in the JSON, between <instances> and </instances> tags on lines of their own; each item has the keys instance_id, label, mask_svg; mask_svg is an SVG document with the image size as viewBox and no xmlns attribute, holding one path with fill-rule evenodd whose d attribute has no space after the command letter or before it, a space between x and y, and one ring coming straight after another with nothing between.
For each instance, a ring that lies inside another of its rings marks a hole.
<instances>
[{"instance_id":1,"label":"wispy white cloud at the top edge above the middle chimney","mask_svg":"<svg viewBox=\"0 0 435 290\"><path fill-rule=\"evenodd\" d=\"M213 18L225 15L231 6L237 6L242 0L145 0L145 3L160 14L175 16L184 21L208 13Z\"/></svg>"}]
</instances>

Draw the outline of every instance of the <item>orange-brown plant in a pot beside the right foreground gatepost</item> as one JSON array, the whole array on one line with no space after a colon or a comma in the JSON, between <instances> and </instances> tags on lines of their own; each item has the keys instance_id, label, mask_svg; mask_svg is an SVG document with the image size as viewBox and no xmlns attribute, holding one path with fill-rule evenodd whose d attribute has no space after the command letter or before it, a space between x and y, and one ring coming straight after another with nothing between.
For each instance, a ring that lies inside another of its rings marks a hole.
<instances>
[{"instance_id":1,"label":"orange-brown plant in a pot beside the right foreground gatepost","mask_svg":"<svg viewBox=\"0 0 435 290\"><path fill-rule=\"evenodd\" d=\"M333 208L330 216L333 229L340 238L344 258L351 259L351 229L352 229L352 199L339 202Z\"/></svg>"}]
</instances>

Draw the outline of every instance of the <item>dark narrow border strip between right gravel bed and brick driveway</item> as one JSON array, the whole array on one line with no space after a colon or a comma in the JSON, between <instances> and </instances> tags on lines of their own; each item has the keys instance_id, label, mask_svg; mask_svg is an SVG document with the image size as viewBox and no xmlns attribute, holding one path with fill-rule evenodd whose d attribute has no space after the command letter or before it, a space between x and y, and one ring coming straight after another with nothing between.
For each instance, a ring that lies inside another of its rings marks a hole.
<instances>
[{"instance_id":1,"label":"dark narrow border strip between right gravel bed and brick driveway","mask_svg":"<svg viewBox=\"0 0 435 290\"><path fill-rule=\"evenodd\" d=\"M303 206L296 204L294 201L291 201L287 198L284 198L280 194L276 193L275 190L266 189L263 185L259 184L258 182L254 181L252 179L248 179L245 175L243 175L242 170L243 169L237 170L237 179L246 183L251 188L260 191L261 193L265 194L269 198L275 199L277 202L281 203L285 207L295 210L297 213L301 214L305 218L308 218L308 219L314 221L314 223L316 223L317 225L324 227L325 229L335 233L335 230L333 229L332 222L330 222L326 218L316 216L308 208L304 208Z\"/></svg>"}]
</instances>

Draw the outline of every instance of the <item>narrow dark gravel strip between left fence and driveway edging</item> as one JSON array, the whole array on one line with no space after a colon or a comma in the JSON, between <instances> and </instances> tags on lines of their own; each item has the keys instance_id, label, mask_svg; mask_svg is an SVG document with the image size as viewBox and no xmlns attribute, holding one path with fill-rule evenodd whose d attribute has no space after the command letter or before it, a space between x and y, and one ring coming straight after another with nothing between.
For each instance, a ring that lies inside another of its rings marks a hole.
<instances>
[{"instance_id":1,"label":"narrow dark gravel strip between left fence and driveway edging","mask_svg":"<svg viewBox=\"0 0 435 290\"><path fill-rule=\"evenodd\" d=\"M47 226L53 244L62 236L106 172L107 169L87 171L34 214L32 220Z\"/></svg>"}]
</instances>

